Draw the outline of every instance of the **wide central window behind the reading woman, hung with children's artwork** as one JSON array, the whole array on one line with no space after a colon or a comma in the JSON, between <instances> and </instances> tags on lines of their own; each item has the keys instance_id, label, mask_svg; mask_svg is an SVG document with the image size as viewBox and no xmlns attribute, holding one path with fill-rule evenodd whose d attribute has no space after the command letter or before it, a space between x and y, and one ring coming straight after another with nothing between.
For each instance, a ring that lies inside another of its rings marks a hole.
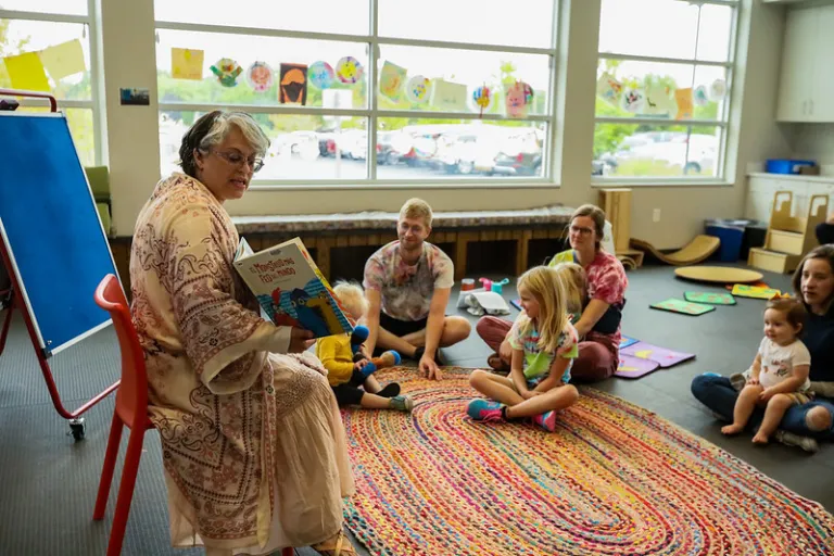
<instances>
[{"instance_id":1,"label":"wide central window behind the reading woman, hung with children's artwork","mask_svg":"<svg viewBox=\"0 0 834 556\"><path fill-rule=\"evenodd\" d=\"M156 0L155 16L163 175L224 108L271 139L256 185L552 179L555 0Z\"/></svg>"}]
</instances>

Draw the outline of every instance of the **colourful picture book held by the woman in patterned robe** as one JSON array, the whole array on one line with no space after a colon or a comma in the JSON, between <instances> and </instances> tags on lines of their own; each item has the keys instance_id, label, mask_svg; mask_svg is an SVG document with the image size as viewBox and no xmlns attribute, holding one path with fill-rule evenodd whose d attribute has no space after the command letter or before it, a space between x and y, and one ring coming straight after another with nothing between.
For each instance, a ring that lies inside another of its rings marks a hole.
<instances>
[{"instance_id":1,"label":"colourful picture book held by the woman in patterned robe","mask_svg":"<svg viewBox=\"0 0 834 556\"><path fill-rule=\"evenodd\" d=\"M315 338L353 332L339 299L299 238L257 253L240 238L235 268L276 326L304 328Z\"/></svg>"}]
</instances>

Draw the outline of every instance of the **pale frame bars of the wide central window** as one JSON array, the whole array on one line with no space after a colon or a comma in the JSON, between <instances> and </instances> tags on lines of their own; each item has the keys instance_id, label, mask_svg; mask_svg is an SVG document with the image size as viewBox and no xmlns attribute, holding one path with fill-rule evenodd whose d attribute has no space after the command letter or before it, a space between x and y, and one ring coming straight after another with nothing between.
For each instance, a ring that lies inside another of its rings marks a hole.
<instances>
[{"instance_id":1,"label":"pale frame bars of the wide central window","mask_svg":"<svg viewBox=\"0 0 834 556\"><path fill-rule=\"evenodd\" d=\"M421 189L467 189L467 188L505 188L509 186L535 188L553 187L557 184L555 167L557 157L555 156L555 139L557 128L557 75L558 75L558 31L559 31L559 0L553 0L553 25L551 28L551 46L544 47L517 47L502 46L492 43L477 42L454 42L442 40L420 40L406 39L379 35L379 0L366 0L369 5L369 34L349 35L336 33L311 33L287 29L268 29L264 27L240 27L202 23L185 23L157 20L154 25L154 33L157 30L174 31L194 31L194 33L215 33L236 36L261 36L278 38L298 38L307 40L332 40L343 42L356 42L365 45L368 54L367 76L368 105L365 109L325 109L312 106L285 106L285 105L253 105L253 104L218 104L218 103L190 103L190 102L159 102L159 113L163 112L210 112L212 110L239 110L253 114L290 114L290 115L317 115L317 116L346 116L362 117L367 122L367 159L365 168L367 177L364 179L257 179L257 175L252 179L252 188L260 190L269 189L366 189L374 187L377 189L409 189L420 186ZM159 42L159 37L157 37ZM428 48L452 48L481 52L502 52L509 54L539 54L548 56L548 114L533 115L528 114L523 118L511 118L500 114L478 114L441 112L441 111L397 111L381 110L378 106L378 70L380 46L402 46L402 47L428 47ZM448 118L453 121L511 121L546 124L545 144L542 151L542 175L541 176L519 176L519 177L486 177L466 176L455 178L429 178L429 179L380 179L377 177L377 136L378 121L386 117L425 117L425 118Z\"/></svg>"}]
</instances>

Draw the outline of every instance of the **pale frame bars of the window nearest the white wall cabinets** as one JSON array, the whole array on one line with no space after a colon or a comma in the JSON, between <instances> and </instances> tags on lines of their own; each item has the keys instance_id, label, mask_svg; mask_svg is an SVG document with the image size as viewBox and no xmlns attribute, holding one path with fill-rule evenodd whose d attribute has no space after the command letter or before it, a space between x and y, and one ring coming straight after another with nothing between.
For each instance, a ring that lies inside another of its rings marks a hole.
<instances>
[{"instance_id":1,"label":"pale frame bars of the window nearest the white wall cabinets","mask_svg":"<svg viewBox=\"0 0 834 556\"><path fill-rule=\"evenodd\" d=\"M668 0L670 2L687 2L697 3L703 8L704 5L722 5L733 9L733 17L730 25L730 43L728 45L728 60L725 62L716 62L707 60L697 60L695 55L692 59L683 58L664 58L664 56L647 56L639 54L621 54L618 52L603 52L598 50L597 46L597 64L601 60L618 60L626 62L655 62L666 64L687 64L693 67L723 67L726 71L726 100L724 104L724 111L721 119L672 119L672 118L657 118L657 117L628 117L628 116L597 116L594 113L594 128L597 124L632 124L632 125L647 125L647 126L686 126L686 127L716 127L721 129L721 140L718 146L718 160L716 161L716 167L719 169L717 176L712 177L687 177L687 176L591 176L592 187L609 187L611 185L628 185L628 186L665 186L665 185L683 185L683 186L702 186L702 185L732 185L735 180L730 179L726 175L728 170L728 136L734 125L733 118L733 88L735 86L735 76L737 74L737 58L738 50L738 22L742 10L741 0L698 0L697 2L688 2L687 0ZM700 17L700 14L698 14ZM602 25L602 12L601 12L601 25ZM697 46L698 38L700 36L700 26L695 35L695 45ZM697 48L697 47L696 47ZM594 111L596 112L596 111ZM688 147L687 147L688 153ZM592 159L593 160L593 159Z\"/></svg>"}]
</instances>

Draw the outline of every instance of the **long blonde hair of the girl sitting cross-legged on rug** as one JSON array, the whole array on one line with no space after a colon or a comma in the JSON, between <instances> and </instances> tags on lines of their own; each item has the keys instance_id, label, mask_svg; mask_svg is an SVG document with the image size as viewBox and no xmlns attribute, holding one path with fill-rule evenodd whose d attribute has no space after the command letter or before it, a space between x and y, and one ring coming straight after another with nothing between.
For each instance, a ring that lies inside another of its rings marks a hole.
<instances>
[{"instance_id":1,"label":"long blonde hair of the girl sitting cross-legged on rug","mask_svg":"<svg viewBox=\"0 0 834 556\"><path fill-rule=\"evenodd\" d=\"M535 317L539 349L555 353L568 319L563 275L554 268L534 266L519 277L518 288L525 288L539 303L539 316ZM528 317L519 326L521 333L527 333L532 320Z\"/></svg>"}]
</instances>

